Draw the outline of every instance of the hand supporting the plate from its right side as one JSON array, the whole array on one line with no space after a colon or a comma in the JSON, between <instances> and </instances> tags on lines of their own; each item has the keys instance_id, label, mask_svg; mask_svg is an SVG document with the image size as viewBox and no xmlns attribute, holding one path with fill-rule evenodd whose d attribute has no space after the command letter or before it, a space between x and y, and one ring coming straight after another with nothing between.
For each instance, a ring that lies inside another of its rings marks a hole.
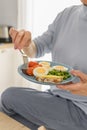
<instances>
[{"instance_id":1,"label":"hand supporting the plate from its right side","mask_svg":"<svg viewBox=\"0 0 87 130\"><path fill-rule=\"evenodd\" d=\"M72 70L71 74L80 78L78 83L57 85L58 88L71 92L72 94L87 96L87 74L79 70Z\"/></svg>"}]
</instances>

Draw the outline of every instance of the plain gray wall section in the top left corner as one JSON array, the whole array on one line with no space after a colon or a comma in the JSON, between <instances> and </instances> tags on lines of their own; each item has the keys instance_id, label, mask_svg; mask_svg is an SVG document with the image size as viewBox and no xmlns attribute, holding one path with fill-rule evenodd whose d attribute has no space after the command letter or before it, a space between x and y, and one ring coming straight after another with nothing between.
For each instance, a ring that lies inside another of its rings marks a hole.
<instances>
[{"instance_id":1,"label":"plain gray wall section in the top left corner","mask_svg":"<svg viewBox=\"0 0 87 130\"><path fill-rule=\"evenodd\" d=\"M0 24L17 27L17 0L0 0Z\"/></svg>"}]
</instances>

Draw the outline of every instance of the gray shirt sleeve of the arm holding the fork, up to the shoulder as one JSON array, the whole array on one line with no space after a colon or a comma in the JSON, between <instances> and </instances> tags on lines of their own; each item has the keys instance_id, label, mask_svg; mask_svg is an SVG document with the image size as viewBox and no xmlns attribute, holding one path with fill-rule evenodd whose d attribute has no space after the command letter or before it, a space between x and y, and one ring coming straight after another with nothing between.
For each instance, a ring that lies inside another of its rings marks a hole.
<instances>
[{"instance_id":1,"label":"gray shirt sleeve of the arm holding the fork, up to the shoulder","mask_svg":"<svg viewBox=\"0 0 87 130\"><path fill-rule=\"evenodd\" d=\"M44 32L41 36L38 36L34 39L34 43L37 47L36 57L41 57L45 53L52 51L53 47L55 46L55 41L59 36L58 34L61 30L62 25L67 22L67 19L71 15L71 12L73 12L73 9L74 6L71 6L61 11L56 16L53 23L48 26L47 31Z\"/></svg>"}]
</instances>

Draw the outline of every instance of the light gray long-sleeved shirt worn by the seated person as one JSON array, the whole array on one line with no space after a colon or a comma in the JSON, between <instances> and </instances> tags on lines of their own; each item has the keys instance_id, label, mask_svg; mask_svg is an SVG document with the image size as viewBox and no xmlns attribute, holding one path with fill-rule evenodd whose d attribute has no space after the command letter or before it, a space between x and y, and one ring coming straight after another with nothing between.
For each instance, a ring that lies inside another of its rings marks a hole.
<instances>
[{"instance_id":1,"label":"light gray long-sleeved shirt worn by the seated person","mask_svg":"<svg viewBox=\"0 0 87 130\"><path fill-rule=\"evenodd\" d=\"M60 12L48 30L34 39L37 57L52 53L52 61L62 62L87 73L87 6L78 5ZM87 114L87 96L78 96L51 86L54 95L70 99Z\"/></svg>"}]
</instances>

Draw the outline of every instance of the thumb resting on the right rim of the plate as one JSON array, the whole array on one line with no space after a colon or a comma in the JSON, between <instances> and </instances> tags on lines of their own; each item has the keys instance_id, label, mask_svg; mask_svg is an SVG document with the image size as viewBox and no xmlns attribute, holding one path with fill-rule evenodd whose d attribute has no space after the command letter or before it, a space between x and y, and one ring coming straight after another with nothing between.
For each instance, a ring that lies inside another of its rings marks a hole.
<instances>
[{"instance_id":1,"label":"thumb resting on the right rim of the plate","mask_svg":"<svg viewBox=\"0 0 87 130\"><path fill-rule=\"evenodd\" d=\"M79 77L82 82L87 82L87 74L85 74L79 70L72 70L71 74Z\"/></svg>"}]
</instances>

